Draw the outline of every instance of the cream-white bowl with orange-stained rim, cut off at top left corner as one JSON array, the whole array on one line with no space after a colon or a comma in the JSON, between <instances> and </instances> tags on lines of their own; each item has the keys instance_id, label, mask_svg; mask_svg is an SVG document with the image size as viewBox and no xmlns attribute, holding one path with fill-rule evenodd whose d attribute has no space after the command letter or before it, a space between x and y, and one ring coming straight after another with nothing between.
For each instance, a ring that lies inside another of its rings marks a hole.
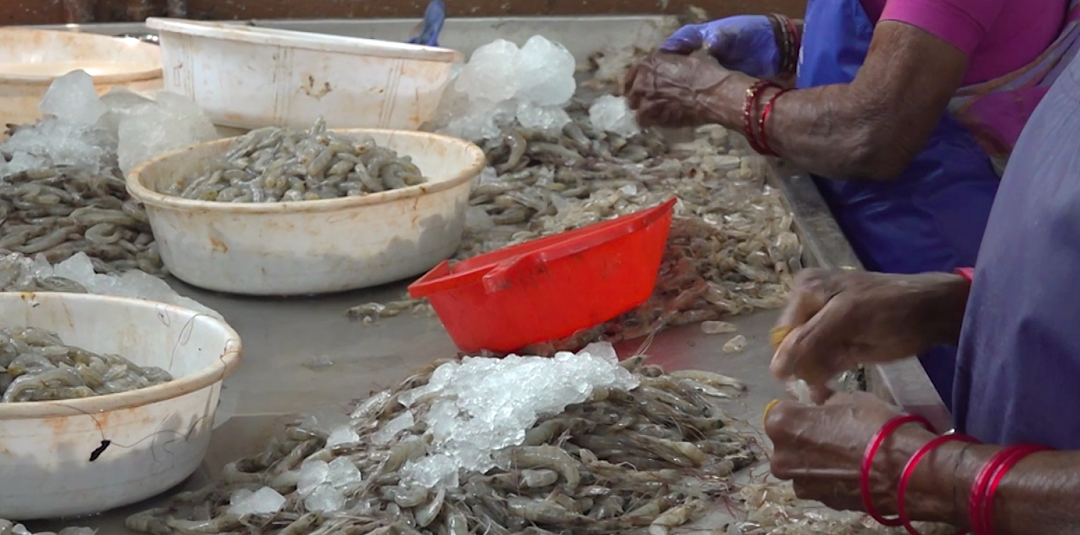
<instances>
[{"instance_id":1,"label":"cream-white bowl with orange-stained rim, cut off at top left corner","mask_svg":"<svg viewBox=\"0 0 1080 535\"><path fill-rule=\"evenodd\" d=\"M76 31L0 28L0 124L38 120L38 102L57 77L83 69L98 94L116 85L161 89L161 53L138 39Z\"/></svg>"}]
</instances>

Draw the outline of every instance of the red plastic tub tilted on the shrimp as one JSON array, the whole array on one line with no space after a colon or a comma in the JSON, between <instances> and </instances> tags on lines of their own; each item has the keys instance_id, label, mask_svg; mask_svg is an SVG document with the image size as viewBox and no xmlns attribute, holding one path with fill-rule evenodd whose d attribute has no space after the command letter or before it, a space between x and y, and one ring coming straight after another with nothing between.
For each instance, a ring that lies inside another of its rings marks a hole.
<instances>
[{"instance_id":1,"label":"red plastic tub tilted on the shrimp","mask_svg":"<svg viewBox=\"0 0 1080 535\"><path fill-rule=\"evenodd\" d=\"M410 284L409 295L431 302L467 353L569 336L649 298L675 202L464 262L444 260Z\"/></svg>"}]
</instances>

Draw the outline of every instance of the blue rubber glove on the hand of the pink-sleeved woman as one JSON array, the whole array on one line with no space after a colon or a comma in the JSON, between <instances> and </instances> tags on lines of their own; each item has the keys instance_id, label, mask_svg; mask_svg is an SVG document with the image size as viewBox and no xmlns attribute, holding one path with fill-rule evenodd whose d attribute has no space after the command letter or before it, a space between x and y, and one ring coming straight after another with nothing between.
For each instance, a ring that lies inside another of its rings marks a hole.
<instances>
[{"instance_id":1,"label":"blue rubber glove on the hand of the pink-sleeved woman","mask_svg":"<svg viewBox=\"0 0 1080 535\"><path fill-rule=\"evenodd\" d=\"M684 26L660 45L660 50L677 54L701 48L725 68L752 77L775 77L780 70L777 36L765 15L738 15Z\"/></svg>"}]
</instances>

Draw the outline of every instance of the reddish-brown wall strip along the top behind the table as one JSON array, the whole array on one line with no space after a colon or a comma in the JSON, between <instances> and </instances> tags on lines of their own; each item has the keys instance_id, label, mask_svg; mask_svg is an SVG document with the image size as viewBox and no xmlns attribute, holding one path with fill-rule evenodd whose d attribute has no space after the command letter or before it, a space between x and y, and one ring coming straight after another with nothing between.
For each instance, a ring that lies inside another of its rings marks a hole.
<instances>
[{"instance_id":1,"label":"reddish-brown wall strip along the top behind the table","mask_svg":"<svg viewBox=\"0 0 1080 535\"><path fill-rule=\"evenodd\" d=\"M449 16L778 12L800 16L806 0L447 0ZM0 25L113 23L148 16L230 18L419 17L427 0L0 0Z\"/></svg>"}]
</instances>

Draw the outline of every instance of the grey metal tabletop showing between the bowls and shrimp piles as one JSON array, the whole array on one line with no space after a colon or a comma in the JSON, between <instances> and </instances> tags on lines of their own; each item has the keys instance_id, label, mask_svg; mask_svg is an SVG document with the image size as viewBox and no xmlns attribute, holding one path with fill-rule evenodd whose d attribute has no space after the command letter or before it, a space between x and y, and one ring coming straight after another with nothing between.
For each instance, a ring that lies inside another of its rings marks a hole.
<instances>
[{"instance_id":1,"label":"grey metal tabletop showing between the bowls and shrimp piles","mask_svg":"<svg viewBox=\"0 0 1080 535\"><path fill-rule=\"evenodd\" d=\"M399 39L416 21L273 21L259 26L324 31L337 35ZM451 18L442 41L465 53L502 37L524 42L535 34L563 42L579 59L606 46L651 48L662 37L670 18L659 16ZM67 26L71 30L116 35L146 31L141 24ZM795 214L796 231L804 243L804 265L860 269L850 245L831 216L810 178L778 164L770 182L779 187ZM345 317L345 310L372 300L399 298L405 283L310 298L246 298L203 292L171 281L183 295L221 312L243 339L244 361L226 382L219 427L203 467L184 486L200 485L225 463L261 450L269 436L291 415L342 412L355 399L401 380L434 359L453 356L456 348L434 318L401 316L363 325ZM734 407L737 417L760 428L765 405L784 396L768 373L771 351L768 332L777 311L734 318L748 342L744 351L725 355L720 346L732 335L705 335L697 325L658 335L648 353L669 369L701 369L735 376L750 387ZM629 355L637 342L620 346ZM333 365L312 369L313 358L328 357ZM882 398L927 415L947 429L948 414L914 359L867 370L868 388ZM231 416L231 417L230 417ZM762 433L764 434L764 433ZM765 438L761 438L762 442ZM129 533L123 518L152 507L154 498L95 518L64 523L31 523L33 530L63 524L91 525L103 534Z\"/></svg>"}]
</instances>

